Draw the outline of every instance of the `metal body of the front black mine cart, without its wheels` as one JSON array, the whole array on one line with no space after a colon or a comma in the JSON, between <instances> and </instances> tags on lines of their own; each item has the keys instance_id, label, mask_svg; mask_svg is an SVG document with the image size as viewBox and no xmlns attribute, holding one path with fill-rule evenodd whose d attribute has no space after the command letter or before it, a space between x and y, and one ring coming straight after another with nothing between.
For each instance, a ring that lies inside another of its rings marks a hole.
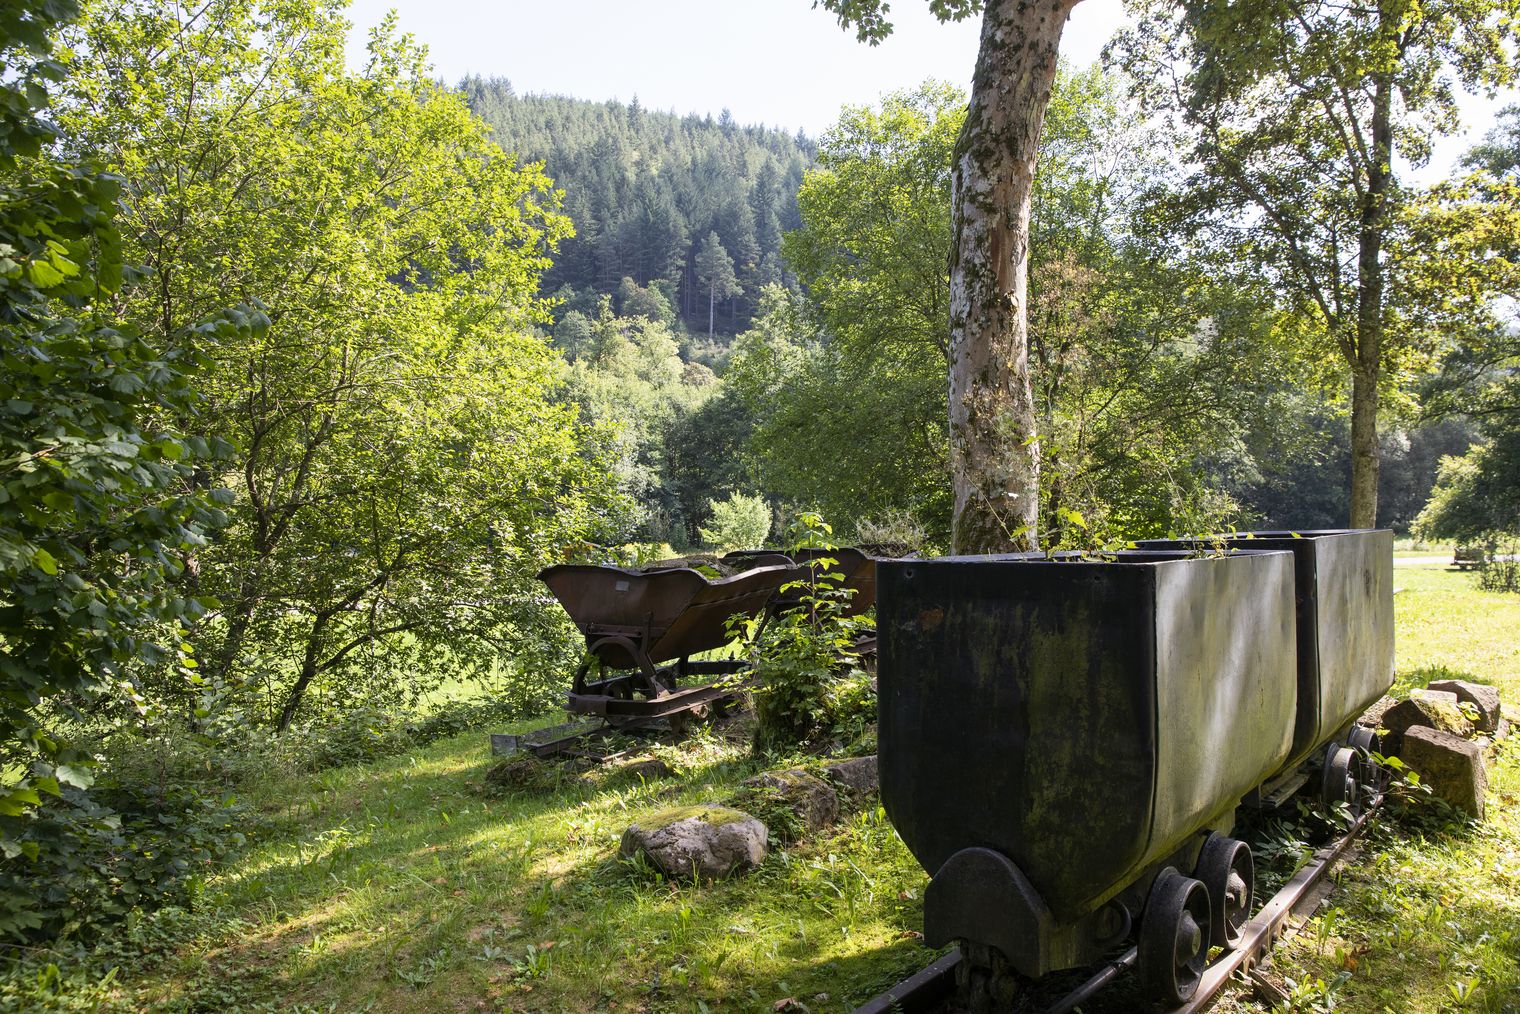
<instances>
[{"instance_id":1,"label":"metal body of the front black mine cart, without its wheels","mask_svg":"<svg viewBox=\"0 0 1520 1014\"><path fill-rule=\"evenodd\" d=\"M1032 978L1094 961L1105 903L1192 868L1196 832L1287 756L1287 553L877 572L882 801L933 874L932 947L993 944Z\"/></svg>"}]
</instances>

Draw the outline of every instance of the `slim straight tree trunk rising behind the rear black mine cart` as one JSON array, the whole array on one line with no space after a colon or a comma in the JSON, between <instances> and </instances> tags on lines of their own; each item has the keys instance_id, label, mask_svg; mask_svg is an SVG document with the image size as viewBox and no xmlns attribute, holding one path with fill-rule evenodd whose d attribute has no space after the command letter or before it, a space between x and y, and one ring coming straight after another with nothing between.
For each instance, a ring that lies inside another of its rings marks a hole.
<instances>
[{"instance_id":1,"label":"slim straight tree trunk rising behind the rear black mine cart","mask_svg":"<svg viewBox=\"0 0 1520 1014\"><path fill-rule=\"evenodd\" d=\"M1351 362L1351 528L1377 526L1377 386L1383 366L1383 231L1392 187L1394 88L1379 74L1373 93L1373 164L1357 234L1356 354Z\"/></svg>"}]
</instances>

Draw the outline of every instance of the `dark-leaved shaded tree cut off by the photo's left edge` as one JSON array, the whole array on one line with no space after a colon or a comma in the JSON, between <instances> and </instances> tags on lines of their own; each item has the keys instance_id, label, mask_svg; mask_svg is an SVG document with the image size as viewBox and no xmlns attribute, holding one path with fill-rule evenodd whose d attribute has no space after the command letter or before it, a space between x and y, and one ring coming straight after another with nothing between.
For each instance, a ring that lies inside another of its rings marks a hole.
<instances>
[{"instance_id":1,"label":"dark-leaved shaded tree cut off by the photo's left edge","mask_svg":"<svg viewBox=\"0 0 1520 1014\"><path fill-rule=\"evenodd\" d=\"M119 315L128 263L120 181L59 158L43 117L64 74L50 36L67 0L0 8L0 856L35 859L33 809L88 787L91 754L55 719L146 708L152 666L193 686L178 584L225 521L199 476L225 444L176 421L204 351L248 341L257 310L176 322L154 347ZM0 935L38 924L0 897Z\"/></svg>"}]
</instances>

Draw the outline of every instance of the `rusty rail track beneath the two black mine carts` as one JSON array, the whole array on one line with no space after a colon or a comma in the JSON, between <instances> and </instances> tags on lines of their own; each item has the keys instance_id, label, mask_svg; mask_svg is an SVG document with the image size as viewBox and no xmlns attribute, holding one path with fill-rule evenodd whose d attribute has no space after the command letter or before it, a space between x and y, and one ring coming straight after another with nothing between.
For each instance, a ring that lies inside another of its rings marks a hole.
<instances>
[{"instance_id":1,"label":"rusty rail track beneath the two black mine carts","mask_svg":"<svg viewBox=\"0 0 1520 1014\"><path fill-rule=\"evenodd\" d=\"M1316 894L1315 888L1345 854L1351 842L1366 829L1368 821L1373 819L1380 806L1382 795L1373 798L1362 815L1339 838L1318 848L1313 857L1277 894L1268 898L1266 905L1245 924L1240 943L1233 950L1221 953L1204 970L1198 991L1192 999L1183 1006L1172 1008L1170 1014L1193 1014L1208 1009L1236 971L1249 971L1260 964L1272 950L1272 946L1286 933L1287 920L1295 915L1307 917L1315 905L1319 903L1321 895ZM1135 959L1137 949L1131 947L1099 968L1082 985L1041 1008L1041 1014L1072 1014L1078 1006L1097 996L1105 985L1131 970ZM854 1014L936 1014L955 996L956 968L961 965L961 952L952 950L892 988L857 1006Z\"/></svg>"}]
</instances>

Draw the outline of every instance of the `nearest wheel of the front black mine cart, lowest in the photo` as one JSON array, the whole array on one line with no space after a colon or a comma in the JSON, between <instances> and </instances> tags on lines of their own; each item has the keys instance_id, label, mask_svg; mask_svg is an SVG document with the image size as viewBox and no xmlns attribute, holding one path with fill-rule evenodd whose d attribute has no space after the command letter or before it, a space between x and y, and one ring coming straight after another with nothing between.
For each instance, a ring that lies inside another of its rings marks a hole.
<instances>
[{"instance_id":1,"label":"nearest wheel of the front black mine cart, lowest in the photo","mask_svg":"<svg viewBox=\"0 0 1520 1014\"><path fill-rule=\"evenodd\" d=\"M1138 964L1146 993L1176 1006L1198 991L1208 962L1208 888L1167 867L1140 917Z\"/></svg>"}]
</instances>

